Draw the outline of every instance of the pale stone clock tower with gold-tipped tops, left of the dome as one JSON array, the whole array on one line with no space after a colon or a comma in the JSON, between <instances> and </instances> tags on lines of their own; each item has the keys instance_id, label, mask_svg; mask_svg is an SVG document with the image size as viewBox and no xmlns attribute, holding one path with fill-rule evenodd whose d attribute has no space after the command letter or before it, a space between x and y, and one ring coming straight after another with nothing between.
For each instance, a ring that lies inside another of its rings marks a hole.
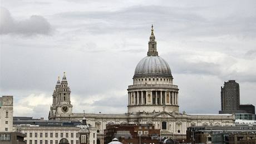
<instances>
[{"instance_id":1,"label":"pale stone clock tower with gold-tipped tops, left of the dome","mask_svg":"<svg viewBox=\"0 0 256 144\"><path fill-rule=\"evenodd\" d=\"M64 72L62 81L58 78L55 90L52 95L52 106L50 108L49 120L69 120L72 115L72 105L70 101L70 87Z\"/></svg>"}]
</instances>

